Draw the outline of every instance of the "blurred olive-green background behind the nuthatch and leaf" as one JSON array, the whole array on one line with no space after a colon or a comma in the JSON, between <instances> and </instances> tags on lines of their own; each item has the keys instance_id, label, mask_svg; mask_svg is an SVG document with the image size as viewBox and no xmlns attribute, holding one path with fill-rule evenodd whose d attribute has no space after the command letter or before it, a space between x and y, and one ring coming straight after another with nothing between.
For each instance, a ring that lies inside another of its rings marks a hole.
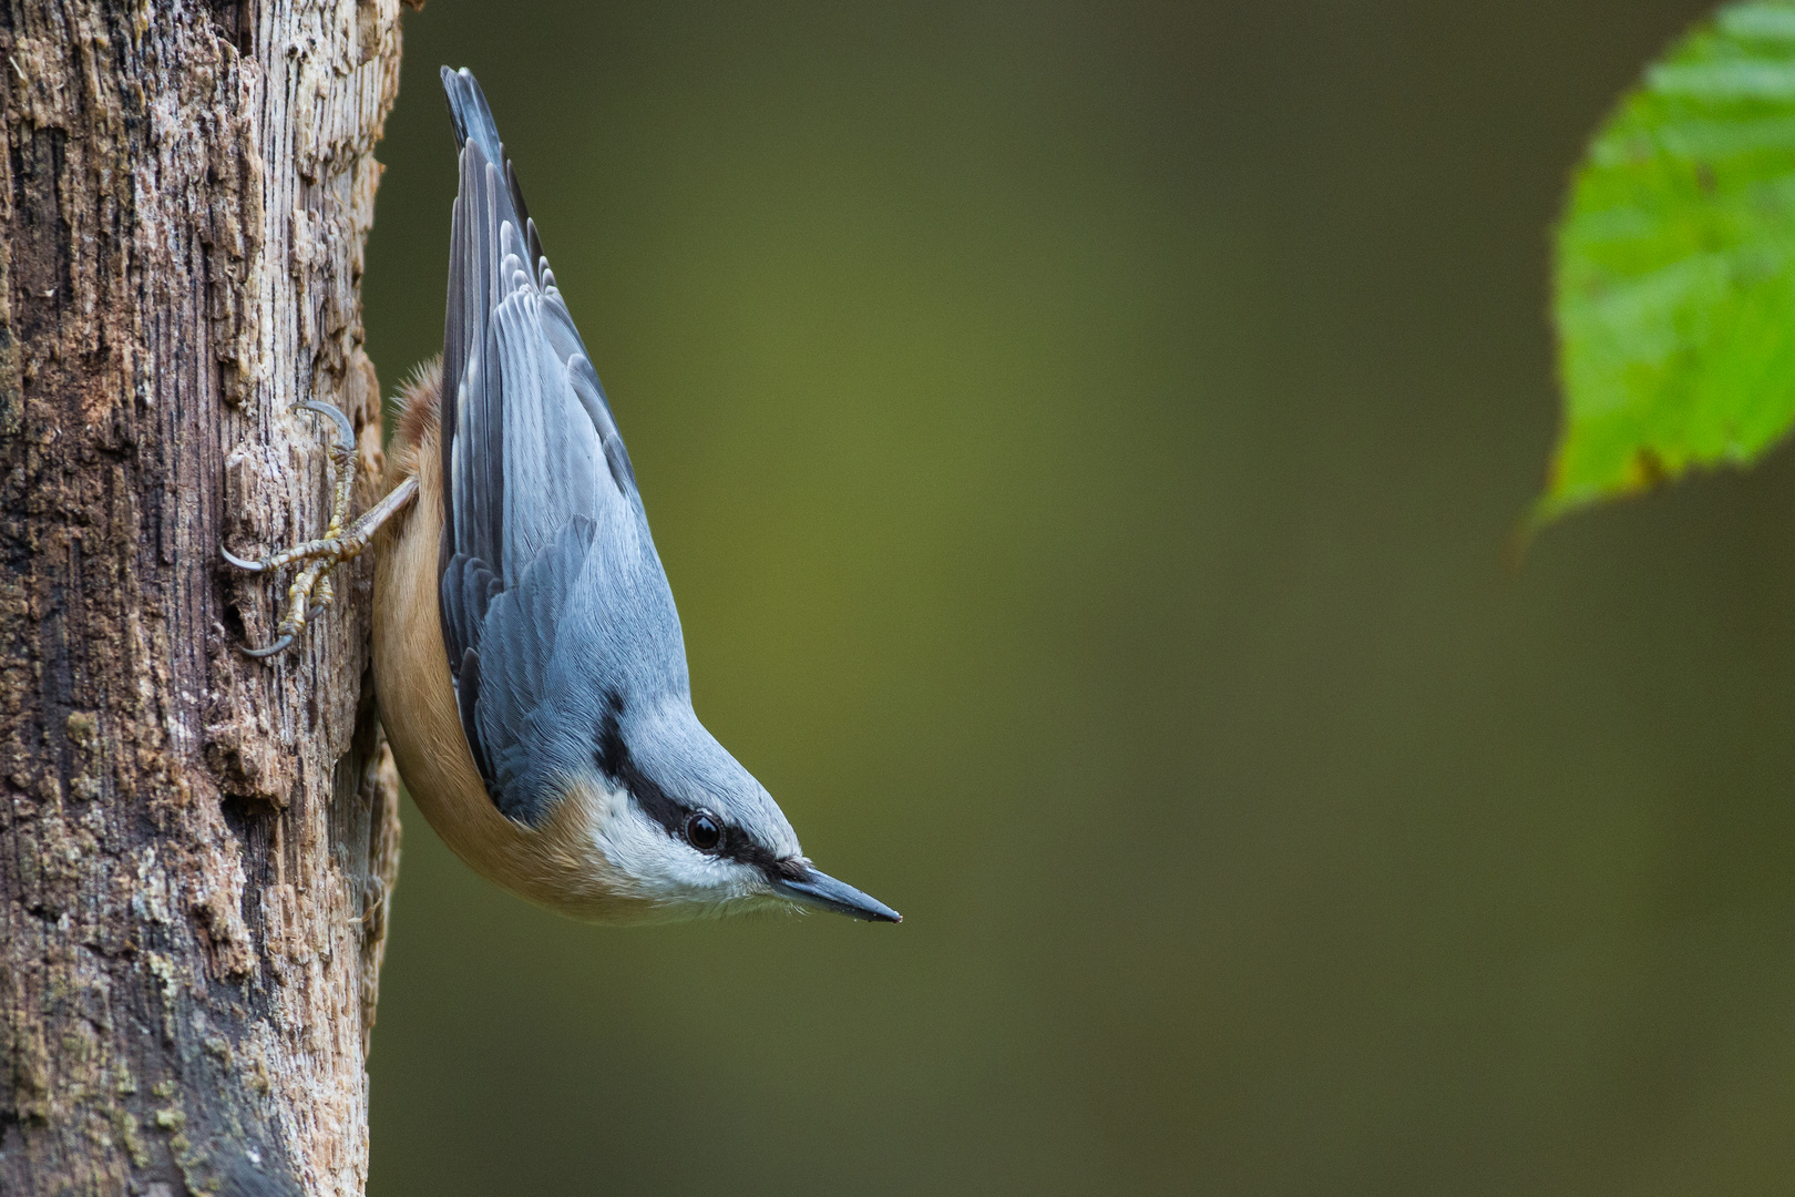
<instances>
[{"instance_id":1,"label":"blurred olive-green background behind the nuthatch and leaf","mask_svg":"<svg viewBox=\"0 0 1795 1197\"><path fill-rule=\"evenodd\" d=\"M709 727L905 912L603 930L406 811L375 1197L1795 1184L1795 461L1510 533L1547 226L1693 0L406 18L479 74Z\"/></svg>"}]
</instances>

